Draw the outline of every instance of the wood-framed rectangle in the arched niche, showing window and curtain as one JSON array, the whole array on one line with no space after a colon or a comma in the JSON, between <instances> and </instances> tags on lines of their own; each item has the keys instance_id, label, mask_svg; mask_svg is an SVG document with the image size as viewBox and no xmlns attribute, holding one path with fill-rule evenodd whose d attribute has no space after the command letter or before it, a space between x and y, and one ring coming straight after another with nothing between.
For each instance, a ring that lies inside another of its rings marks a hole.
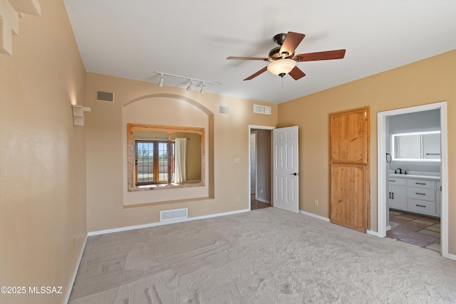
<instances>
[{"instance_id":1,"label":"wood-framed rectangle in the arched niche, showing window and curtain","mask_svg":"<svg viewBox=\"0 0 456 304\"><path fill-rule=\"evenodd\" d=\"M204 128L128 124L128 191L204 186Z\"/></svg>"}]
</instances>

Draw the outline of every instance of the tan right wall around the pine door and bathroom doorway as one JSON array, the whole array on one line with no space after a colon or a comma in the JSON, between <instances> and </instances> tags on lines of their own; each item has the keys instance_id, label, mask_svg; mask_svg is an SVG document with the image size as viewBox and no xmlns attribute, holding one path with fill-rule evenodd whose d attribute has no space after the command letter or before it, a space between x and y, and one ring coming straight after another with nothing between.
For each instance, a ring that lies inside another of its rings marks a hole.
<instances>
[{"instance_id":1,"label":"tan right wall around the pine door and bathroom doorway","mask_svg":"<svg viewBox=\"0 0 456 304\"><path fill-rule=\"evenodd\" d=\"M328 115L371 107L371 214L377 225L377 113L447 101L449 253L456 254L456 51L279 105L279 127L299 126L299 209L329 217ZM302 81L306 81L305 79ZM319 204L315 206L314 200Z\"/></svg>"}]
</instances>

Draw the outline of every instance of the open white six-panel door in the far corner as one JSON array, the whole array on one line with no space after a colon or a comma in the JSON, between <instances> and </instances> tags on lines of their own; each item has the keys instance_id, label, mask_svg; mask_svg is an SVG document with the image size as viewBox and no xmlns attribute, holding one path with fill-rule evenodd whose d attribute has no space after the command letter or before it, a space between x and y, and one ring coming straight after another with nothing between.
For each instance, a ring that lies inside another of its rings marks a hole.
<instances>
[{"instance_id":1,"label":"open white six-panel door in the far corner","mask_svg":"<svg viewBox=\"0 0 456 304\"><path fill-rule=\"evenodd\" d=\"M273 205L299 213L298 127L281 127L272 131Z\"/></svg>"}]
</instances>

